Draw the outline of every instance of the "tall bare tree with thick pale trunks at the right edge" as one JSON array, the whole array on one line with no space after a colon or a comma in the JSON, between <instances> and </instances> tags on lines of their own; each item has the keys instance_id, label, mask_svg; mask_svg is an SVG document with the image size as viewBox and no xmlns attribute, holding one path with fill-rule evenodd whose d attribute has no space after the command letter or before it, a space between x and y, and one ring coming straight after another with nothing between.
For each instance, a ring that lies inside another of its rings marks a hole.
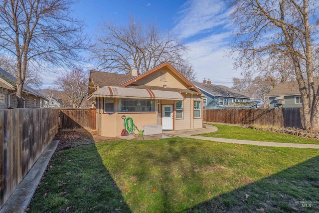
<instances>
[{"instance_id":1,"label":"tall bare tree with thick pale trunks at the right edge","mask_svg":"<svg viewBox=\"0 0 319 213\"><path fill-rule=\"evenodd\" d=\"M304 127L319 130L319 88L314 87L313 39L317 4L308 0L232 0L238 28L237 62L254 67L274 53L289 55L303 102Z\"/></svg>"}]
</instances>

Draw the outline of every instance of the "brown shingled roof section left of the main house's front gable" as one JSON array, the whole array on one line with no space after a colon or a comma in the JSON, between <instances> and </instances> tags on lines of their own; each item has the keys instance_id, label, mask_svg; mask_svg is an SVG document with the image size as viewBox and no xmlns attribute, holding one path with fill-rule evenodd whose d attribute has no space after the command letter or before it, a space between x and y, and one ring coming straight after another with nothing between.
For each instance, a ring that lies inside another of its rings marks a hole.
<instances>
[{"instance_id":1,"label":"brown shingled roof section left of the main house's front gable","mask_svg":"<svg viewBox=\"0 0 319 213\"><path fill-rule=\"evenodd\" d=\"M90 77L94 86L119 86L135 76L91 70Z\"/></svg>"}]
</instances>

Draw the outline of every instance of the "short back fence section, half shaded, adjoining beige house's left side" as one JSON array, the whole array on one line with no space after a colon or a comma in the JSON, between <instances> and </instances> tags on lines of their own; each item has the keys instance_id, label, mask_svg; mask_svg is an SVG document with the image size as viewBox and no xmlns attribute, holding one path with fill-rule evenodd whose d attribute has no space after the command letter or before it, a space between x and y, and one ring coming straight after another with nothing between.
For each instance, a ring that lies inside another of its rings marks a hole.
<instances>
[{"instance_id":1,"label":"short back fence section, half shaded, adjoining beige house's left side","mask_svg":"<svg viewBox=\"0 0 319 213\"><path fill-rule=\"evenodd\" d=\"M95 109L61 109L60 131L95 130Z\"/></svg>"}]
</instances>

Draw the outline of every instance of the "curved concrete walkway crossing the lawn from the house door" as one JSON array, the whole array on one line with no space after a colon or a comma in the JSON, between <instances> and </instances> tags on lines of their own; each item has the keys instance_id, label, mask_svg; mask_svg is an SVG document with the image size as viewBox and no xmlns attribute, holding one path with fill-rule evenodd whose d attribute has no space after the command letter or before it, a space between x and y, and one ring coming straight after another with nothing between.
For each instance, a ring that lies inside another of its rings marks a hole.
<instances>
[{"instance_id":1,"label":"curved concrete walkway crossing the lawn from the house door","mask_svg":"<svg viewBox=\"0 0 319 213\"><path fill-rule=\"evenodd\" d=\"M319 145L315 145L315 144L276 143L276 142L246 141L246 140L236 140L236 139L226 139L226 138L193 136L197 134L204 134L204 133L217 131L217 128L215 126L212 126L212 125L205 125L205 126L206 128L202 128L202 129L166 131L166 132L163 132L163 134L171 136L171 137L194 138L198 140L217 141L217 142L233 143L233 144L248 144L248 145L256 145L256 146L266 146L266 147L292 147L292 148L319 149Z\"/></svg>"}]
</instances>

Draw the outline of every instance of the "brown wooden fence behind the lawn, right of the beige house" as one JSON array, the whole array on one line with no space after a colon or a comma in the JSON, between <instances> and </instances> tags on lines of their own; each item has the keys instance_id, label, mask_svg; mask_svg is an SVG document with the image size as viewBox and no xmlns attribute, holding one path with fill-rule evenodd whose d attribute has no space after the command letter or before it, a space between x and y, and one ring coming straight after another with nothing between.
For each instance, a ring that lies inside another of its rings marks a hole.
<instances>
[{"instance_id":1,"label":"brown wooden fence behind the lawn, right of the beige house","mask_svg":"<svg viewBox=\"0 0 319 213\"><path fill-rule=\"evenodd\" d=\"M203 121L302 128L300 108L204 109Z\"/></svg>"}]
</instances>

